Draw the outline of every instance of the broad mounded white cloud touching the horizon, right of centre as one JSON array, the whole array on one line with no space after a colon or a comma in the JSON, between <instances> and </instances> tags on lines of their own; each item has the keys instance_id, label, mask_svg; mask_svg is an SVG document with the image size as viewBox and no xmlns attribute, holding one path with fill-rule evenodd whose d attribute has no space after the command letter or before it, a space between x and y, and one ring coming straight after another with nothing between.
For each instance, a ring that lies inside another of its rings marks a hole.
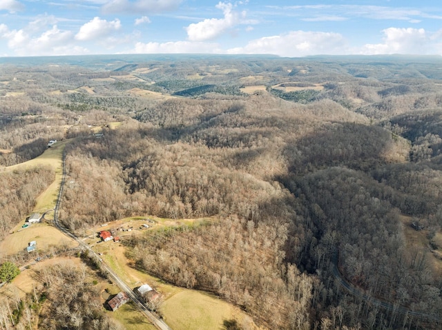
<instances>
[{"instance_id":1,"label":"broad mounded white cloud touching the horizon, right of centre","mask_svg":"<svg viewBox=\"0 0 442 330\"><path fill-rule=\"evenodd\" d=\"M229 54L274 54L297 57L315 54L345 54L347 41L334 32L291 31L272 37L249 41L241 48L232 48Z\"/></svg>"}]
</instances>

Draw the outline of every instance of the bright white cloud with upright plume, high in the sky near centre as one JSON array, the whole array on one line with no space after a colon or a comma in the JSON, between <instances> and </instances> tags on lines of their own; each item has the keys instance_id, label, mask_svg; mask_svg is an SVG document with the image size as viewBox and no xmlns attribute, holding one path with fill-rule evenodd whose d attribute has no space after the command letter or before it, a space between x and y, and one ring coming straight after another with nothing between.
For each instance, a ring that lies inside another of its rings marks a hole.
<instances>
[{"instance_id":1,"label":"bright white cloud with upright plume, high in the sky near centre","mask_svg":"<svg viewBox=\"0 0 442 330\"><path fill-rule=\"evenodd\" d=\"M206 41L218 37L220 34L233 28L235 25L251 23L246 21L245 12L233 11L231 3L220 2L216 8L224 13L223 19L204 19L198 23L192 23L186 28L190 41Z\"/></svg>"}]
</instances>

